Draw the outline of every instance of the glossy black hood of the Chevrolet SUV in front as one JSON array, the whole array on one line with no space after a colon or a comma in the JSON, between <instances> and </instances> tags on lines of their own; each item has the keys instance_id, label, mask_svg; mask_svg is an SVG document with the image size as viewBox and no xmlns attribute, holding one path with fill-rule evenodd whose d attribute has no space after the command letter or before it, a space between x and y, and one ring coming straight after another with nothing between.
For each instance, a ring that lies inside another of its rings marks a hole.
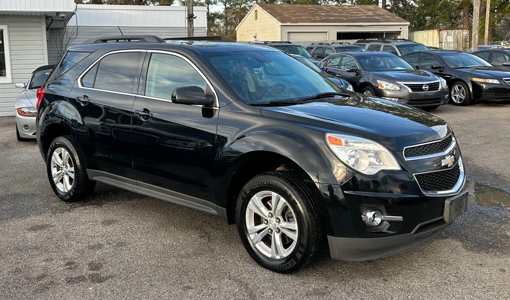
<instances>
[{"instance_id":1,"label":"glossy black hood of the Chevrolet SUV in front","mask_svg":"<svg viewBox=\"0 0 510 300\"><path fill-rule=\"evenodd\" d=\"M375 97L349 98L283 107L263 107L262 115L330 133L377 141L393 151L441 139L448 131L443 119L420 109Z\"/></svg>"}]
</instances>

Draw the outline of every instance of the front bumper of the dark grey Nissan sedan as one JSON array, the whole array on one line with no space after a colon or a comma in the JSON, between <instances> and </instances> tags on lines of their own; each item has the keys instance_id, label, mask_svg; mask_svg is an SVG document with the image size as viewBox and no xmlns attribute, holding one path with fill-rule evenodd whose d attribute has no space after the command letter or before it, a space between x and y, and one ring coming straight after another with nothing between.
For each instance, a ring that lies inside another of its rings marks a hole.
<instances>
[{"instance_id":1,"label":"front bumper of the dark grey Nissan sedan","mask_svg":"<svg viewBox=\"0 0 510 300\"><path fill-rule=\"evenodd\" d=\"M406 88L399 91L382 90L376 88L376 94L382 98L395 98L396 102L410 106L426 107L438 106L448 103L448 89L441 88L438 91L411 92ZM395 101L392 99L392 101Z\"/></svg>"}]
</instances>

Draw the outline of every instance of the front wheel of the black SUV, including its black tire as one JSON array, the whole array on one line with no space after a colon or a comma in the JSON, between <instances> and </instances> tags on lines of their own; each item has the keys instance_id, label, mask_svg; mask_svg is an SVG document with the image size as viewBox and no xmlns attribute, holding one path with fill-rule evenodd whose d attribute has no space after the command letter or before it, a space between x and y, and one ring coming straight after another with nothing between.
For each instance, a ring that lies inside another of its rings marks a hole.
<instances>
[{"instance_id":1,"label":"front wheel of the black SUV, including its black tire","mask_svg":"<svg viewBox=\"0 0 510 300\"><path fill-rule=\"evenodd\" d=\"M313 261L323 231L310 192L293 174L267 172L251 179L236 207L239 236L253 260L288 273Z\"/></svg>"}]
</instances>

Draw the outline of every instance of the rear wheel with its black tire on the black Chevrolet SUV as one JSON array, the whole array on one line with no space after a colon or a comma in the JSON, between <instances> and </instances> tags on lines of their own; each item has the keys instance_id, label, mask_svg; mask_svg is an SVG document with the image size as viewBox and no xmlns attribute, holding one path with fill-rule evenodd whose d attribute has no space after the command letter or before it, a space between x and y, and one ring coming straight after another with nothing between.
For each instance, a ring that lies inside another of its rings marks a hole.
<instances>
[{"instance_id":1,"label":"rear wheel with its black tire on the black Chevrolet SUV","mask_svg":"<svg viewBox=\"0 0 510 300\"><path fill-rule=\"evenodd\" d=\"M92 193L95 181L89 180L78 145L71 136L55 138L46 157L49 184L65 202L84 199Z\"/></svg>"}]
</instances>

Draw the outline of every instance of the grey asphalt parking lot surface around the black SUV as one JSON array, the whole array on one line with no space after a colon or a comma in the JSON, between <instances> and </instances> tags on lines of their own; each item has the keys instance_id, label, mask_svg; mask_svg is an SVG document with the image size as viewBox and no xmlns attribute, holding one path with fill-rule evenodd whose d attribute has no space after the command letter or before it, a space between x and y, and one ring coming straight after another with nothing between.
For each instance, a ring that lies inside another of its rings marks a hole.
<instances>
[{"instance_id":1,"label":"grey asphalt parking lot surface around the black SUV","mask_svg":"<svg viewBox=\"0 0 510 300\"><path fill-rule=\"evenodd\" d=\"M2 298L510 298L510 210L475 203L474 183L510 192L510 103L447 105L470 179L468 212L438 238L369 262L326 257L293 274L259 267L219 217L98 184L53 194L35 142L0 118Z\"/></svg>"}]
</instances>

